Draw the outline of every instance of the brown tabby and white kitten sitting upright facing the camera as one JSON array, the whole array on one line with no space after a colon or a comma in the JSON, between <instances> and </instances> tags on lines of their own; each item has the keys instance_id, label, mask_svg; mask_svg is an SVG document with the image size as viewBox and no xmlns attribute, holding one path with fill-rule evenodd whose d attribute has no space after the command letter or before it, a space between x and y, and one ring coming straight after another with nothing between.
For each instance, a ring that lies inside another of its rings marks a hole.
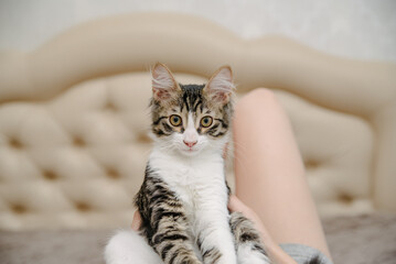
<instances>
[{"instance_id":1,"label":"brown tabby and white kitten sitting upright facing the camera","mask_svg":"<svg viewBox=\"0 0 396 264\"><path fill-rule=\"evenodd\" d=\"M152 70L153 150L135 199L139 234L121 231L108 264L270 263L258 232L227 210L223 150L229 141L233 76L221 67L206 85L178 84L162 64Z\"/></svg>"}]
</instances>

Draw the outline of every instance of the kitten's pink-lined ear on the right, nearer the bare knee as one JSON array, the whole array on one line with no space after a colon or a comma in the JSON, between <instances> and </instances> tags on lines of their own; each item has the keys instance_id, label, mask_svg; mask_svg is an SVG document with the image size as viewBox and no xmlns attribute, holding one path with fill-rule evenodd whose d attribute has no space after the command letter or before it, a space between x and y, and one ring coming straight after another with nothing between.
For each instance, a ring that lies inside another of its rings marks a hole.
<instances>
[{"instance_id":1,"label":"kitten's pink-lined ear on the right, nearer the bare knee","mask_svg":"<svg viewBox=\"0 0 396 264\"><path fill-rule=\"evenodd\" d=\"M213 74L204 91L211 100L225 105L231 100L234 88L233 70L229 66L223 66Z\"/></svg>"}]
</instances>

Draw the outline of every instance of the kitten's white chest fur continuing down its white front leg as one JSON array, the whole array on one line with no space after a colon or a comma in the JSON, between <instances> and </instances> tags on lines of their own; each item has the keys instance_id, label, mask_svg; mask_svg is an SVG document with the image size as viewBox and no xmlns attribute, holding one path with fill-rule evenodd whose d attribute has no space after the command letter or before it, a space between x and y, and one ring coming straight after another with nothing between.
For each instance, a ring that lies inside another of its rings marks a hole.
<instances>
[{"instance_id":1,"label":"kitten's white chest fur continuing down its white front leg","mask_svg":"<svg viewBox=\"0 0 396 264\"><path fill-rule=\"evenodd\" d=\"M153 150L150 167L182 200L191 231L200 237L203 252L216 248L222 253L218 263L236 263L221 154L183 157Z\"/></svg>"}]
</instances>

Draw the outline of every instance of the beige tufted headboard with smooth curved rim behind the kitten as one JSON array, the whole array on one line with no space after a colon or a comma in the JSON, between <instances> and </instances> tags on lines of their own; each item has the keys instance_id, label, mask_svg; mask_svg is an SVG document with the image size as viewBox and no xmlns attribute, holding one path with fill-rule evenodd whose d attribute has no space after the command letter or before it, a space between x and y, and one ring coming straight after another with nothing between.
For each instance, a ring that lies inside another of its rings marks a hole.
<instances>
[{"instance_id":1,"label":"beige tufted headboard with smooth curved rim behind the kitten","mask_svg":"<svg viewBox=\"0 0 396 264\"><path fill-rule=\"evenodd\" d=\"M239 95L277 91L322 216L396 212L396 66L205 20L146 13L78 25L0 55L0 229L128 226L150 150L148 69L203 82L229 64Z\"/></svg>"}]
</instances>

